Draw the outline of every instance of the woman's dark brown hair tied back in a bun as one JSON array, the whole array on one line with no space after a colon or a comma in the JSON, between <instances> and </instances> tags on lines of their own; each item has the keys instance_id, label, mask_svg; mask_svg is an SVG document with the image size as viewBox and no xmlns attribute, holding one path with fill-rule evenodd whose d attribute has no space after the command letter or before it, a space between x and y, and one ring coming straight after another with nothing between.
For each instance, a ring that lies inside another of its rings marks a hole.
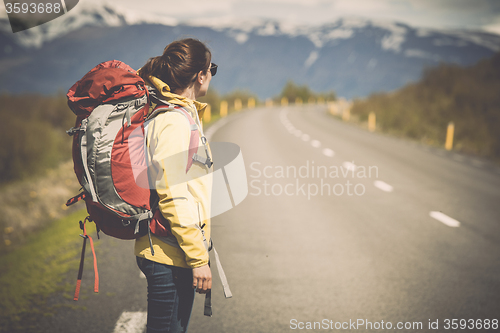
<instances>
[{"instance_id":1,"label":"woman's dark brown hair tied back in a bun","mask_svg":"<svg viewBox=\"0 0 500 333\"><path fill-rule=\"evenodd\" d=\"M156 76L170 86L171 91L184 90L200 71L210 67L212 54L199 40L187 38L168 44L163 55L150 58L139 70L143 80Z\"/></svg>"}]
</instances>

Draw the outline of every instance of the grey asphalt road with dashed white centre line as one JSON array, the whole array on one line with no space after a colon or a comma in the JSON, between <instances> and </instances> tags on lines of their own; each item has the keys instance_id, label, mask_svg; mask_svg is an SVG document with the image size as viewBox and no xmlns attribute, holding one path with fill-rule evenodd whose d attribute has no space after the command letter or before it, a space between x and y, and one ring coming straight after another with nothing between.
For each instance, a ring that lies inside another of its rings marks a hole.
<instances>
[{"instance_id":1,"label":"grey asphalt road with dashed white centre line","mask_svg":"<svg viewBox=\"0 0 500 333\"><path fill-rule=\"evenodd\" d=\"M226 119L211 141L241 147L249 184L213 220L233 298L216 280L214 315L203 316L198 296L191 333L453 332L464 323L493 332L495 320L498 330L498 168L370 133L320 106ZM133 242L100 242L100 294L88 257L85 310L62 307L40 332L142 331L132 328L146 311Z\"/></svg>"}]
</instances>

